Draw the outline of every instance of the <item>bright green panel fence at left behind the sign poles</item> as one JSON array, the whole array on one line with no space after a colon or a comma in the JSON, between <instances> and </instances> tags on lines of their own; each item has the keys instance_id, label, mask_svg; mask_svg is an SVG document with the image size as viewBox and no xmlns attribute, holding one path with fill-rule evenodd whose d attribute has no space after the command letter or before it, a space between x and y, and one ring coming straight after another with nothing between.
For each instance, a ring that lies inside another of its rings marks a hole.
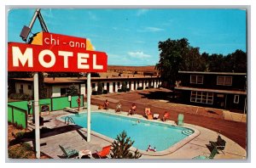
<instances>
[{"instance_id":1,"label":"bright green panel fence at left behind the sign poles","mask_svg":"<svg viewBox=\"0 0 256 168\"><path fill-rule=\"evenodd\" d=\"M45 98L39 100L40 111L46 106L49 107L49 111L61 110L66 107L77 108L79 104L77 99L79 96L71 97L71 101L68 101L68 97L57 97L57 98ZM84 106L84 95L80 95L81 107ZM27 126L27 101L10 102L8 103L8 121L15 123L23 128ZM33 114L33 108L30 111Z\"/></svg>"}]
</instances>

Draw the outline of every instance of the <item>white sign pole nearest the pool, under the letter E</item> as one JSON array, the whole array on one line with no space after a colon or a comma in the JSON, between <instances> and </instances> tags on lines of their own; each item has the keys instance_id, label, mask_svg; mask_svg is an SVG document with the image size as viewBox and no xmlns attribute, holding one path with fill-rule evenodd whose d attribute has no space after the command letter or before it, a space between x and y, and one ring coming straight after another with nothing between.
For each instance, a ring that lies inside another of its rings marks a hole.
<instances>
[{"instance_id":1,"label":"white sign pole nearest the pool, under the letter E","mask_svg":"<svg viewBox=\"0 0 256 168\"><path fill-rule=\"evenodd\" d=\"M87 142L90 142L90 73L87 73Z\"/></svg>"}]
</instances>

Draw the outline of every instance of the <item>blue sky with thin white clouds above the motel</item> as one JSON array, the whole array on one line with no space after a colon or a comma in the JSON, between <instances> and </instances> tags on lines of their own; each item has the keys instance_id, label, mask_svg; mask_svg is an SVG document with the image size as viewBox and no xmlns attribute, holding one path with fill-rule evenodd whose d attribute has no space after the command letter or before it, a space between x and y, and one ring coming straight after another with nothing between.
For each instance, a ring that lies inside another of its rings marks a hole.
<instances>
[{"instance_id":1,"label":"blue sky with thin white clouds above the motel","mask_svg":"<svg viewBox=\"0 0 256 168\"><path fill-rule=\"evenodd\" d=\"M35 8L12 8L8 42L23 42ZM231 8L41 8L49 32L90 39L109 65L155 65L158 43L187 38L200 53L247 52L246 10ZM38 20L32 33L42 31Z\"/></svg>"}]
</instances>

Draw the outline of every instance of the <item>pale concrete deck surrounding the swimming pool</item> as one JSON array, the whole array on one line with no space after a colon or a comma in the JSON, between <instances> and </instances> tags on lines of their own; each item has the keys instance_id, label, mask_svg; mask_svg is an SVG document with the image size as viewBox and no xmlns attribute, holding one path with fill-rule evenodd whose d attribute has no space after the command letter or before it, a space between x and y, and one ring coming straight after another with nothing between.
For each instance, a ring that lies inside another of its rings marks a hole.
<instances>
[{"instance_id":1,"label":"pale concrete deck surrounding the swimming pool","mask_svg":"<svg viewBox=\"0 0 256 168\"><path fill-rule=\"evenodd\" d=\"M92 105L91 111L98 111L97 106ZM101 111L106 110L103 109ZM114 110L108 109L107 113L114 113ZM90 143L87 143L86 129L75 125L67 126L67 124L61 122L60 120L56 120L56 117L67 114L70 113L61 110L51 112L50 115L44 116L44 120L49 120L49 122L44 123L44 126L51 129L51 131L41 137L40 143L45 143L45 145L41 146L41 152L49 155L51 158L60 159L63 152L61 151L59 144L63 147L70 147L77 150L90 149L93 153L96 150L100 150L103 146L111 144L109 141L103 139L102 137L98 137L95 135L91 135L91 141ZM120 112L119 115L127 116L127 112ZM142 115L133 115L133 117L137 117L138 119L144 118ZM167 120L166 123L176 125L175 122L172 120ZM184 126L195 128L200 132L200 134L188 143L184 144L182 147L177 148L177 150L172 154L165 154L161 156L143 155L141 159L190 160L193 157L201 154L209 156L211 152L207 148L207 144L209 143L209 141L217 140L218 132L213 132L207 128L186 123L184 123ZM226 141L224 154L218 154L214 157L214 159L241 160L247 158L247 152L244 148L241 148L241 146L239 146L237 143L227 137L224 137L223 135L221 135L221 137L223 137ZM29 143L32 144L32 142Z\"/></svg>"}]
</instances>

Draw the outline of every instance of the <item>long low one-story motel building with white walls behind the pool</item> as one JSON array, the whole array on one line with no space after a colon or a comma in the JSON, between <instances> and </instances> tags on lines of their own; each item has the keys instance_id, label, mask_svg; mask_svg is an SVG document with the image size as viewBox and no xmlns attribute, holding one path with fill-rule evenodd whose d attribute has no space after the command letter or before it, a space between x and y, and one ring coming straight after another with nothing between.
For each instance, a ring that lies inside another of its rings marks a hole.
<instances>
[{"instance_id":1,"label":"long low one-story motel building with white walls behind the pool","mask_svg":"<svg viewBox=\"0 0 256 168\"><path fill-rule=\"evenodd\" d=\"M67 89L71 85L79 88L80 94L87 94L86 77L44 77L44 84L47 89L47 97L55 98L67 96ZM15 93L28 94L32 96L32 78L12 78L10 82L15 86ZM157 76L140 77L91 77L92 94L97 91L98 83L102 83L103 90L108 93L119 92L122 83L127 83L128 91L144 90L148 88L158 88L161 85L160 78ZM107 93L106 92L106 93Z\"/></svg>"}]
</instances>

